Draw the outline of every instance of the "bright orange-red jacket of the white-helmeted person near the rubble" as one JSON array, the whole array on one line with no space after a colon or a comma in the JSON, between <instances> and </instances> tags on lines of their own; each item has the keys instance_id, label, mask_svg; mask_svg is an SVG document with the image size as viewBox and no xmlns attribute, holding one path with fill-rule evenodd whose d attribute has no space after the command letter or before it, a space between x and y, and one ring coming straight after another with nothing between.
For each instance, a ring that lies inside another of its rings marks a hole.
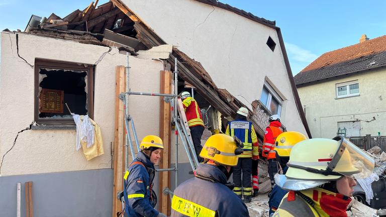
<instances>
[{"instance_id":1,"label":"bright orange-red jacket of the white-helmeted person near the rubble","mask_svg":"<svg viewBox=\"0 0 386 217\"><path fill-rule=\"evenodd\" d=\"M282 133L280 130L281 124L278 121L269 123L269 126L265 129L262 156L269 159L276 159L276 153L273 150L275 148L276 138ZM266 155L264 152L268 152Z\"/></svg>"}]
</instances>

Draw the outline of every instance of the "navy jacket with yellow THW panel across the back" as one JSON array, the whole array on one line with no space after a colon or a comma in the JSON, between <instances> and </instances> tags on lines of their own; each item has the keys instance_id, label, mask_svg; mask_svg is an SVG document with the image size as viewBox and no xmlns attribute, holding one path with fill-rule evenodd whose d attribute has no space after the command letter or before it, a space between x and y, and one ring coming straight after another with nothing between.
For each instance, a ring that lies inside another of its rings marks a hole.
<instances>
[{"instance_id":1,"label":"navy jacket with yellow THW panel across the back","mask_svg":"<svg viewBox=\"0 0 386 217\"><path fill-rule=\"evenodd\" d=\"M225 174L216 165L199 164L196 177L186 180L174 190L171 216L249 216L241 198L226 184Z\"/></svg>"}]
</instances>

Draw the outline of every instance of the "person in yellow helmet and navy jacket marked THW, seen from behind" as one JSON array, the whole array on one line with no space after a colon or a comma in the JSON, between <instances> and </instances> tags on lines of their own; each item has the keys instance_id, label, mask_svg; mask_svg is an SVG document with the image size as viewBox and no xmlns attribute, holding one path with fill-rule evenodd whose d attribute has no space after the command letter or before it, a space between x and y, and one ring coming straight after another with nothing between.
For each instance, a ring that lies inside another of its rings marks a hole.
<instances>
[{"instance_id":1,"label":"person in yellow helmet and navy jacket marked THW, seen from behind","mask_svg":"<svg viewBox=\"0 0 386 217\"><path fill-rule=\"evenodd\" d=\"M241 143L225 134L211 136L200 153L204 163L198 165L196 177L174 190L171 216L249 216L246 205L227 182L243 152L241 147Z\"/></svg>"}]
</instances>

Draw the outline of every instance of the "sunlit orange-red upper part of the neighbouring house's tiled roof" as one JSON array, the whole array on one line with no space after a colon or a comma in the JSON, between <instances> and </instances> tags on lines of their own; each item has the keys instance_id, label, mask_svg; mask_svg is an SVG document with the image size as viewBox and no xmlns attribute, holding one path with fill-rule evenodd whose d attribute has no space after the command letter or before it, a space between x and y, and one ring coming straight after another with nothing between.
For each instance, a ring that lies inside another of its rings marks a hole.
<instances>
[{"instance_id":1,"label":"sunlit orange-red upper part of the neighbouring house's tiled roof","mask_svg":"<svg viewBox=\"0 0 386 217\"><path fill-rule=\"evenodd\" d=\"M386 35L324 53L301 73L386 51Z\"/></svg>"}]
</instances>

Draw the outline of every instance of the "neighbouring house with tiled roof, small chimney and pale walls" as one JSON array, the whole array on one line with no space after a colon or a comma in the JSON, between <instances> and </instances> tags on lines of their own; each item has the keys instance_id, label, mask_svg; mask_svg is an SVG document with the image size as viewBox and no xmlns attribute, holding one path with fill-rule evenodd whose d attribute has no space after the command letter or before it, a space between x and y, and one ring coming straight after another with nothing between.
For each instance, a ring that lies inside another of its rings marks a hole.
<instances>
[{"instance_id":1,"label":"neighbouring house with tiled roof, small chimney and pale walls","mask_svg":"<svg viewBox=\"0 0 386 217\"><path fill-rule=\"evenodd\" d=\"M385 135L385 80L386 36L362 35L304 68L295 82L313 137Z\"/></svg>"}]
</instances>

